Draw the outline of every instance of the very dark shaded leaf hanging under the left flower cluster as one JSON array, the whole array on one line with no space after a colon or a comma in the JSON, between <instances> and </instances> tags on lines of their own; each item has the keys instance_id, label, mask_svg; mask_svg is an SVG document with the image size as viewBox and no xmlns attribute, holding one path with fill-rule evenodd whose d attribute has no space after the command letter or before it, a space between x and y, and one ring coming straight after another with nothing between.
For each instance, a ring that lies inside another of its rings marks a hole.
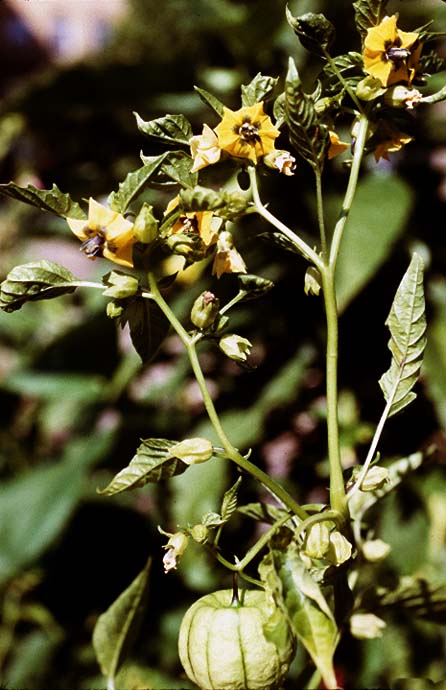
<instances>
[{"instance_id":1,"label":"very dark shaded leaf hanging under the left flower cluster","mask_svg":"<svg viewBox=\"0 0 446 690\"><path fill-rule=\"evenodd\" d=\"M120 323L122 327L129 324L133 347L144 364L155 357L170 329L158 305L142 297L125 301Z\"/></svg>"}]
</instances>

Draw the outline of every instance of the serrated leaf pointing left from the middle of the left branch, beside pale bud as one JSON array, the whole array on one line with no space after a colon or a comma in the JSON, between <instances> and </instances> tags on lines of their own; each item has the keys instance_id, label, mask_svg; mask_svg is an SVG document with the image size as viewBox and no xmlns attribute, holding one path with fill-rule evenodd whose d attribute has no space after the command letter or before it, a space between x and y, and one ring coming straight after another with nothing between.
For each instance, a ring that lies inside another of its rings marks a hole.
<instances>
[{"instance_id":1,"label":"serrated leaf pointing left from the middle of the left branch, beside pale bud","mask_svg":"<svg viewBox=\"0 0 446 690\"><path fill-rule=\"evenodd\" d=\"M163 438L143 440L129 465L118 472L105 489L98 490L98 493L113 496L182 474L189 465L170 455L170 449L176 443Z\"/></svg>"}]
</instances>

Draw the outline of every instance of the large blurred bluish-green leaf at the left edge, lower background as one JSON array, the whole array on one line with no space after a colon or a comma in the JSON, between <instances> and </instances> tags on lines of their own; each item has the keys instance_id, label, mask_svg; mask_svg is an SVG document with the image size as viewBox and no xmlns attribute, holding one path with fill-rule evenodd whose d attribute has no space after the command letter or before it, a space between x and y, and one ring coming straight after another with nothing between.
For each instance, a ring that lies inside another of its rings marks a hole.
<instances>
[{"instance_id":1,"label":"large blurred bluish-green leaf at the left edge, lower background","mask_svg":"<svg viewBox=\"0 0 446 690\"><path fill-rule=\"evenodd\" d=\"M0 485L0 581L29 565L65 527L87 469L109 452L113 432L72 442L64 457Z\"/></svg>"}]
</instances>

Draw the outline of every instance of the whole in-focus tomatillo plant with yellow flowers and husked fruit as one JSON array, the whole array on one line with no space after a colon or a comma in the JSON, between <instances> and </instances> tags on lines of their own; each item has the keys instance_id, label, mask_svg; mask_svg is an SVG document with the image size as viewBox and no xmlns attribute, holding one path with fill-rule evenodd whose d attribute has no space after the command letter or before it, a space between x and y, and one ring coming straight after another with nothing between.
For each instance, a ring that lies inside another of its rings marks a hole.
<instances>
[{"instance_id":1,"label":"whole in-focus tomatillo plant with yellow flowers and husked fruit","mask_svg":"<svg viewBox=\"0 0 446 690\"><path fill-rule=\"evenodd\" d=\"M176 525L173 532L159 526L169 537L163 559L166 577L181 567L191 544L215 559L222 576L228 572L234 577L232 592L223 589L199 599L181 625L181 662L189 678L203 690L282 687L296 640L312 665L313 676L306 680L306 687L316 688L322 680L326 688L337 688L334 659L342 636L378 636L385 626L375 612L387 593L375 593L374 611L369 610L367 601L372 599L363 596L361 568L365 562L384 559L389 547L376 538L374 525L365 515L423 460L418 453L386 467L379 464L384 425L416 397L413 388L426 344L423 261L413 254L391 304L386 321L390 363L379 381L384 398L382 415L363 462L351 476L342 464L338 418L336 267L364 158L370 155L373 166L374 160L389 159L392 152L409 145L416 111L446 98L444 87L429 95L419 90L429 84L426 66L430 72L436 66L440 69L440 61L427 48L433 34L426 27L403 31L402 18L386 15L386 6L385 0L353 2L352 19L361 52L334 56L335 27L325 16L293 16L287 10L297 39L322 65L312 92L304 88L290 59L282 80L257 74L243 85L235 110L198 86L197 97L210 107L210 118L219 119L214 127L211 119L204 122L201 133L194 133L181 114L151 121L137 115L139 130L158 146L165 144L166 150L156 156L142 155L142 165L127 174L105 205L90 199L87 212L56 186L45 190L32 185L22 188L13 182L1 185L2 193L64 218L67 232L71 230L81 241L86 260L106 259L126 269L105 268L102 281L93 282L76 278L50 258L16 266L2 283L1 308L13 312L25 302L55 298L77 288L99 290L107 315L121 327L128 324L133 345L145 364L156 356L173 330L187 355L217 439L195 435L146 438L128 464L99 490L101 496L137 491L149 482L165 482L184 474L191 465L232 463L241 475L227 488L218 512L216 507L197 524ZM329 227L324 170L340 154L346 156L348 182L337 220ZM319 229L315 242L309 242L294 223L286 224L263 198L263 177L292 177L297 166L306 166L314 178ZM209 182L215 179L212 173L216 170L227 175L220 186ZM244 184L238 186L235 180L242 178ZM141 197L144 191L160 187L173 192L162 212L157 213ZM249 273L248 261L238 246L236 230L248 216L266 226L270 240L289 251L296 262L306 264L305 286L297 287L309 296L318 295L324 305L329 464L326 504L302 504L298 487L285 486L261 469L249 448L235 447L231 429L222 423L203 372L203 343L214 346L222 358L249 366L252 343L235 332L232 316L240 302L260 300L274 287L268 278ZM175 270L171 269L172 259ZM167 288L175 281L180 284L189 267L196 269L192 275L208 271L212 284L199 297L191 297L188 316L180 319ZM230 301L219 293L219 281L224 281L226 274L238 278L238 292ZM150 337L152 331L156 337ZM240 483L247 478L265 489L273 502L239 505ZM242 545L221 547L221 535L236 513L239 518L254 517L266 523L245 551ZM148 569L147 565L96 626L94 644L110 689L139 604L145 600ZM239 579L248 585L243 592L238 591ZM402 585L399 598L394 593L393 602L410 600L414 586L414 581L406 583L406 588ZM430 583L424 586L425 592L433 591Z\"/></svg>"}]
</instances>

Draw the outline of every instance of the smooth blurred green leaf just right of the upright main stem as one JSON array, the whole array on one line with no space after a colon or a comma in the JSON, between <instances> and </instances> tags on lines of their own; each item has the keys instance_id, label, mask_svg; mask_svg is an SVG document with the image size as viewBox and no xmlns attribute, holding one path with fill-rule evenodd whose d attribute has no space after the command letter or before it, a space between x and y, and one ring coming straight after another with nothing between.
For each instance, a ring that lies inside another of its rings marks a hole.
<instances>
[{"instance_id":1,"label":"smooth blurred green leaf just right of the upright main stem","mask_svg":"<svg viewBox=\"0 0 446 690\"><path fill-rule=\"evenodd\" d=\"M410 187L396 175L370 174L359 183L336 267L340 312L385 262L411 207Z\"/></svg>"}]
</instances>

